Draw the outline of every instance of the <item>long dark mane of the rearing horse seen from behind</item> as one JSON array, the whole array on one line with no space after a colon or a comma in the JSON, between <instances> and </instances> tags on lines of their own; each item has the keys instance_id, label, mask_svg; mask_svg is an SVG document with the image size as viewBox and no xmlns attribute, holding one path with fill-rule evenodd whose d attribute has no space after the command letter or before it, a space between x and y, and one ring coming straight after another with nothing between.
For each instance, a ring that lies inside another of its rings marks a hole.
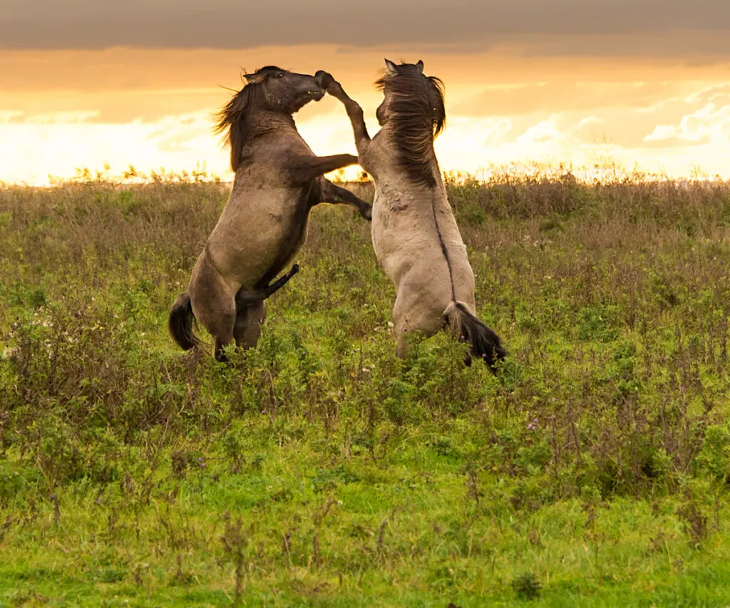
<instances>
[{"instance_id":1,"label":"long dark mane of the rearing horse seen from behind","mask_svg":"<svg viewBox=\"0 0 730 608\"><path fill-rule=\"evenodd\" d=\"M435 76L424 76L418 66L400 64L398 72L386 70L375 85L388 93L388 122L399 150L401 167L412 182L434 187L431 150L434 138L446 124L444 83Z\"/></svg>"}]
</instances>

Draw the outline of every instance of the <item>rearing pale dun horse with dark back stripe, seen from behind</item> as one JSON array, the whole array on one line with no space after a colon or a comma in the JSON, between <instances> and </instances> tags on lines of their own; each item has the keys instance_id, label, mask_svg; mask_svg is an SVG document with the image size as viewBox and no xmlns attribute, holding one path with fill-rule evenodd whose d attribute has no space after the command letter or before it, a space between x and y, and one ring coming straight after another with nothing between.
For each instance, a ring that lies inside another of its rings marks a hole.
<instances>
[{"instance_id":1,"label":"rearing pale dun horse with dark back stripe, seen from behind","mask_svg":"<svg viewBox=\"0 0 730 608\"><path fill-rule=\"evenodd\" d=\"M446 120L443 84L423 74L423 61L396 66L386 59L385 66L376 83L385 96L377 108L382 128L372 139L361 107L339 82L326 72L315 78L345 104L360 164L375 182L372 245L396 285L396 354L405 355L407 332L430 336L449 326L494 369L506 352L499 336L475 317L474 273L434 153L434 137Z\"/></svg>"}]
</instances>

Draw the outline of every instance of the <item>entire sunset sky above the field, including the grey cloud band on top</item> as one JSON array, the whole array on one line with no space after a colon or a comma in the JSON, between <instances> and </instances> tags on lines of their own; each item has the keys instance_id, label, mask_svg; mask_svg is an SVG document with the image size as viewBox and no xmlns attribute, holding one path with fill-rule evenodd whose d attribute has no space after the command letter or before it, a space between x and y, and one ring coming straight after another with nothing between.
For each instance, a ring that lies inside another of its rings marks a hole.
<instances>
[{"instance_id":1,"label":"entire sunset sky above the field, including the grey cloud band on top","mask_svg":"<svg viewBox=\"0 0 730 608\"><path fill-rule=\"evenodd\" d=\"M730 177L726 0L2 0L0 181L104 163L227 178L212 113L267 64L328 70L374 132L384 57L445 82L442 169ZM316 153L355 152L334 99L295 118Z\"/></svg>"}]
</instances>

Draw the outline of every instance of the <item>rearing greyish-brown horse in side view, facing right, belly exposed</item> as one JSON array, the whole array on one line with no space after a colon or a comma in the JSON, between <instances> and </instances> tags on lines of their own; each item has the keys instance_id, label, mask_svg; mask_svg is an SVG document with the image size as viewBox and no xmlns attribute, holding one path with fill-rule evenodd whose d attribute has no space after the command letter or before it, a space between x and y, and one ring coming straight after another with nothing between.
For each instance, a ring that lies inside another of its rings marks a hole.
<instances>
[{"instance_id":1,"label":"rearing greyish-brown horse in side view, facing right, belly exposed","mask_svg":"<svg viewBox=\"0 0 730 608\"><path fill-rule=\"evenodd\" d=\"M247 85L220 112L228 131L231 196L193 268L188 290L175 301L169 331L180 347L199 345L193 317L215 340L215 358L235 340L251 347L266 317L264 299L298 270L269 285L307 238L310 209L320 202L348 204L370 219L371 206L322 175L356 164L351 154L316 156L301 139L292 114L319 101L313 76L266 66L246 74Z\"/></svg>"}]
</instances>

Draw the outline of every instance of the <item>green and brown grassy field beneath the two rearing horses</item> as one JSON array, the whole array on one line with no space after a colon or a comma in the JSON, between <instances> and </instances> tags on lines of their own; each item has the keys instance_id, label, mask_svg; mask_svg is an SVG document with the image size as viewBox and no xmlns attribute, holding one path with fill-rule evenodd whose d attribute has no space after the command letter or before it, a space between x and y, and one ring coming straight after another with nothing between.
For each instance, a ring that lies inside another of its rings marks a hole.
<instances>
[{"instance_id":1,"label":"green and brown grassy field beneath the two rearing horses","mask_svg":"<svg viewBox=\"0 0 730 608\"><path fill-rule=\"evenodd\" d=\"M396 360L350 209L223 366L166 319L225 185L0 190L0 607L730 605L730 183L449 191L496 376Z\"/></svg>"}]
</instances>

